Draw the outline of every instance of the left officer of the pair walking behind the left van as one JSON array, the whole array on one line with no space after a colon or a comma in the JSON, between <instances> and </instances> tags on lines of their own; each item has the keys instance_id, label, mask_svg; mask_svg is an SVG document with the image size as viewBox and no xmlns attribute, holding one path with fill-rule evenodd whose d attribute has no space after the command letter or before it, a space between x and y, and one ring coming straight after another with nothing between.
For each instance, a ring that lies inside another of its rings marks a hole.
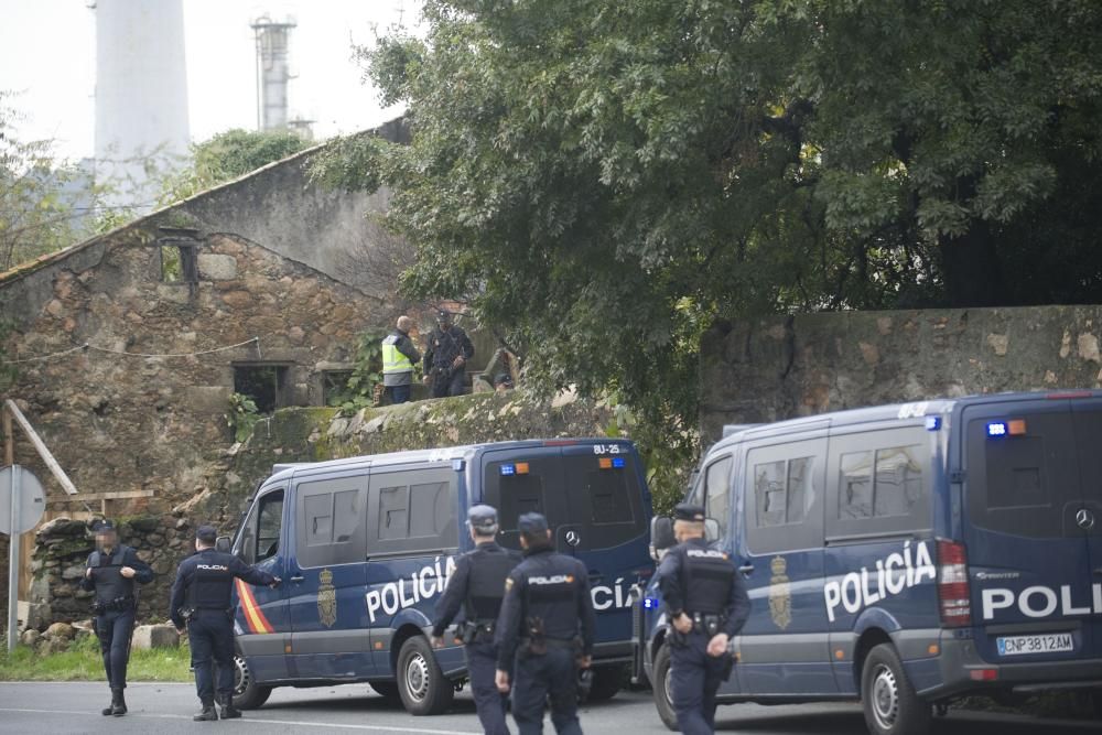
<instances>
[{"instance_id":1,"label":"left officer of the pair walking behind the left van","mask_svg":"<svg viewBox=\"0 0 1102 735\"><path fill-rule=\"evenodd\" d=\"M462 637L478 720L487 735L508 735L506 698L497 691L495 682L497 646L494 645L494 627L505 596L505 581L520 563L520 554L503 549L494 541L498 530L497 511L490 506L473 506L467 511L467 526L476 548L460 556L455 571L447 579L444 594L436 604L432 644L437 648L443 645L444 628L462 606Z\"/></svg>"}]
</instances>

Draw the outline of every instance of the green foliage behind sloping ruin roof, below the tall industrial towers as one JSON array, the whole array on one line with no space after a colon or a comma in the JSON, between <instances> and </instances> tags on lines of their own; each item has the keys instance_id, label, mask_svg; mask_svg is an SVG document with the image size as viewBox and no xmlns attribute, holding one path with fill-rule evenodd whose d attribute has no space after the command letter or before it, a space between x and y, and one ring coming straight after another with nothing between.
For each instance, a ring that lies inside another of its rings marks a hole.
<instances>
[{"instance_id":1,"label":"green foliage behind sloping ruin roof, below the tall industrial towers","mask_svg":"<svg viewBox=\"0 0 1102 735\"><path fill-rule=\"evenodd\" d=\"M160 204L168 205L293 155L310 145L289 131L233 129L192 145L192 164L164 182Z\"/></svg>"}]
</instances>

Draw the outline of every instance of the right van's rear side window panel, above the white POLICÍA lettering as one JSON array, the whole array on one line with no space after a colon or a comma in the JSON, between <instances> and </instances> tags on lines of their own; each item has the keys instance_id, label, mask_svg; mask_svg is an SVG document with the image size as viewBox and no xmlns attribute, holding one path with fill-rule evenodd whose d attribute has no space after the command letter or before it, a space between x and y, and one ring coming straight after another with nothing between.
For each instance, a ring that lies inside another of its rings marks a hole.
<instances>
[{"instance_id":1,"label":"right van's rear side window panel, above the white POLIC\u00cdA lettering","mask_svg":"<svg viewBox=\"0 0 1102 735\"><path fill-rule=\"evenodd\" d=\"M923 426L832 435L828 538L929 530L930 457Z\"/></svg>"}]
</instances>

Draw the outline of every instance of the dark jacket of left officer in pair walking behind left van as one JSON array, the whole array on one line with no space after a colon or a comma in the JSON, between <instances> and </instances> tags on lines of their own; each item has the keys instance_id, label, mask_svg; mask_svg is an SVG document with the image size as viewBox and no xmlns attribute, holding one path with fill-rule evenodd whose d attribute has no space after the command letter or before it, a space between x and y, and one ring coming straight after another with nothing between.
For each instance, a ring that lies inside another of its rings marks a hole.
<instances>
[{"instance_id":1,"label":"dark jacket of left officer in pair walking behind left van","mask_svg":"<svg viewBox=\"0 0 1102 735\"><path fill-rule=\"evenodd\" d=\"M497 619L505 595L505 581L520 563L520 554L493 541L479 543L455 562L447 586L436 604L432 635L440 638L460 608L468 623L485 624Z\"/></svg>"}]
</instances>

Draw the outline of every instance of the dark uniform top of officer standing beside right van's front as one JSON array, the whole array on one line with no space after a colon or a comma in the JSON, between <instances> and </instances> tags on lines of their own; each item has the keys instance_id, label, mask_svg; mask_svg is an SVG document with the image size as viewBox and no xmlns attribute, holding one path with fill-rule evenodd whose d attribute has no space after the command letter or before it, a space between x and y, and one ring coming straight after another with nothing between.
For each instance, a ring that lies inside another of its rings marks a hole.
<instances>
[{"instance_id":1,"label":"dark uniform top of officer standing beside right van's front","mask_svg":"<svg viewBox=\"0 0 1102 735\"><path fill-rule=\"evenodd\" d=\"M670 549L658 566L658 587L672 618L683 612L717 615L720 633L737 634L750 613L746 582L730 554L710 548L704 539L690 539Z\"/></svg>"}]
</instances>

